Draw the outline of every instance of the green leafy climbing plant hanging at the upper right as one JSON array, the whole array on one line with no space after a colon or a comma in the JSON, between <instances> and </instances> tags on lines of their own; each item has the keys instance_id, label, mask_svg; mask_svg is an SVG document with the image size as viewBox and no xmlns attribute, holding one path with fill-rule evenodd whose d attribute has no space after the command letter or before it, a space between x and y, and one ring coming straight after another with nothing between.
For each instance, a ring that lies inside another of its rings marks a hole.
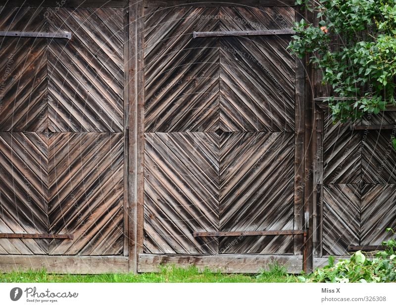
<instances>
[{"instance_id":1,"label":"green leafy climbing plant hanging at the upper right","mask_svg":"<svg viewBox=\"0 0 396 307\"><path fill-rule=\"evenodd\" d=\"M307 55L322 83L333 88L327 99L333 120L354 121L395 104L396 0L309 3L296 1L318 22L297 22L289 48L300 58Z\"/></svg>"}]
</instances>

